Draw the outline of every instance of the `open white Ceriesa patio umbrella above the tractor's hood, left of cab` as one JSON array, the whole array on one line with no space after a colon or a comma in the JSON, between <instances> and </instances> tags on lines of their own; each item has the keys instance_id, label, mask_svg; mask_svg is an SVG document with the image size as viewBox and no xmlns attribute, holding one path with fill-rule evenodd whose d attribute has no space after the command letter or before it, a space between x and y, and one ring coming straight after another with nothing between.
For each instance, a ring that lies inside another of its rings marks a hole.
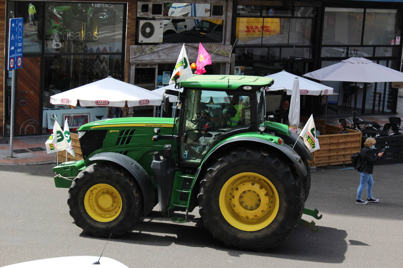
<instances>
[{"instance_id":1,"label":"open white Ceriesa patio umbrella above the tractor's hood, left of cab","mask_svg":"<svg viewBox=\"0 0 403 268\"><path fill-rule=\"evenodd\" d=\"M160 106L162 96L145 88L108 77L50 97L52 104L77 106L78 100L81 106L124 107L125 102L128 107Z\"/></svg>"}]
</instances>

